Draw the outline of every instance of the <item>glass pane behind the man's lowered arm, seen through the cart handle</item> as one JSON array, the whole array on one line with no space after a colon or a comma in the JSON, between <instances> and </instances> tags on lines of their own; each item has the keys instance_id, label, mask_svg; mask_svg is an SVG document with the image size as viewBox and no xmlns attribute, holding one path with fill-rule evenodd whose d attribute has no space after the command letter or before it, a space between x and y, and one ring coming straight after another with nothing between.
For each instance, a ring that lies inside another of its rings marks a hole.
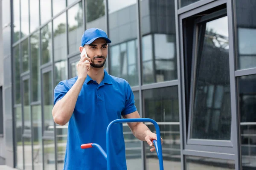
<instances>
[{"instance_id":1,"label":"glass pane behind the man's lowered arm, seen through the cart handle","mask_svg":"<svg viewBox=\"0 0 256 170\"><path fill-rule=\"evenodd\" d=\"M134 92L135 106L140 113L140 98L139 91ZM126 164L128 170L141 170L143 160L141 159L142 145L139 139L137 139L131 132L129 126L123 124L123 134L125 139L125 154Z\"/></svg>"}]
</instances>

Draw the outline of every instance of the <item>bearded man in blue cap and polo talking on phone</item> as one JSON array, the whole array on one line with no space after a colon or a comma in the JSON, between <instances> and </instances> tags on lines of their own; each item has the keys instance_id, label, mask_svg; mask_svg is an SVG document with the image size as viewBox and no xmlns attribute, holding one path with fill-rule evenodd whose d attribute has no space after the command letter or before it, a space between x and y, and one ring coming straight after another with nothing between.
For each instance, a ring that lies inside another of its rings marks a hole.
<instances>
[{"instance_id":1,"label":"bearded man in blue cap and polo talking on phone","mask_svg":"<svg viewBox=\"0 0 256 170\"><path fill-rule=\"evenodd\" d=\"M81 144L98 143L106 151L106 129L115 119L140 118L134 94L127 81L113 77L104 69L108 54L107 34L99 28L84 31L76 65L78 76L59 82L54 91L52 116L59 125L68 125L64 170L106 170L107 162L96 148L82 150ZM90 63L85 62L88 60ZM137 139L152 144L157 139L142 122L128 123ZM122 124L111 129L111 170L126 170ZM108 155L109 156L109 155ZM138 165L140 166L140 165Z\"/></svg>"}]
</instances>

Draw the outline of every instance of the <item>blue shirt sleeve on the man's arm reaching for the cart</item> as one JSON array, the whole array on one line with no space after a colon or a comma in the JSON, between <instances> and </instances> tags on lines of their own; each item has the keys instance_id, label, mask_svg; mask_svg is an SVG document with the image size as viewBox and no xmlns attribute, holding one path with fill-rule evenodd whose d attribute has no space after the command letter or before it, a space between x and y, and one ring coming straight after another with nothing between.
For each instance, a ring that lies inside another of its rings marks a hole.
<instances>
[{"instance_id":1,"label":"blue shirt sleeve on the man's arm reaching for the cart","mask_svg":"<svg viewBox=\"0 0 256 170\"><path fill-rule=\"evenodd\" d=\"M122 111L122 115L130 114L137 111L134 101L134 94L131 90L131 86L126 83L126 95L125 95L125 108Z\"/></svg>"}]
</instances>

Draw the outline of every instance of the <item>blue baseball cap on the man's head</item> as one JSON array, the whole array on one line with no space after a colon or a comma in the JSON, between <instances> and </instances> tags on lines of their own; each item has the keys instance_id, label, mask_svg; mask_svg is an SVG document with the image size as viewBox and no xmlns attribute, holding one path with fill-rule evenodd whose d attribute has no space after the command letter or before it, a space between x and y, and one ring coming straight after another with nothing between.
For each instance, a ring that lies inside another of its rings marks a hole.
<instances>
[{"instance_id":1,"label":"blue baseball cap on the man's head","mask_svg":"<svg viewBox=\"0 0 256 170\"><path fill-rule=\"evenodd\" d=\"M97 38L104 38L107 43L111 43L111 40L108 39L105 31L99 28L89 28L85 30L84 34L82 35L81 46L83 47L84 45L89 45Z\"/></svg>"}]
</instances>

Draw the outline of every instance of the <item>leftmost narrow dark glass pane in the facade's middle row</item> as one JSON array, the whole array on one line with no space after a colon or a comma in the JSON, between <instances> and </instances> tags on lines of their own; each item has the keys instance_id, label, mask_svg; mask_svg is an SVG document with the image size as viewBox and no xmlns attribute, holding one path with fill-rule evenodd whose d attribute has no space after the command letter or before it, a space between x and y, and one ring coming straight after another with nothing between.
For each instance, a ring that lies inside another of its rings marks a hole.
<instances>
[{"instance_id":1,"label":"leftmost narrow dark glass pane in the facade's middle row","mask_svg":"<svg viewBox=\"0 0 256 170\"><path fill-rule=\"evenodd\" d=\"M15 104L20 103L20 46L13 48L13 57L15 65Z\"/></svg>"}]
</instances>

